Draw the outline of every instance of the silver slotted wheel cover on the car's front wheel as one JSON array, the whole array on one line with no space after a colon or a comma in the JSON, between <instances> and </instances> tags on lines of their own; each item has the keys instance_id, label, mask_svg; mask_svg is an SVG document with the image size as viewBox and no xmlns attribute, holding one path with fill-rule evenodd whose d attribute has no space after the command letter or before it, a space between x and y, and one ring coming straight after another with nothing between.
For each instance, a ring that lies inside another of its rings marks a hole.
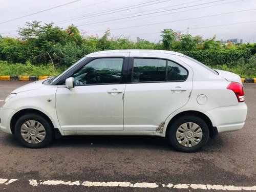
<instances>
[{"instance_id":1,"label":"silver slotted wheel cover on the car's front wheel","mask_svg":"<svg viewBox=\"0 0 256 192\"><path fill-rule=\"evenodd\" d=\"M20 133L25 141L31 144L38 144L46 137L45 127L38 121L29 120L22 124Z\"/></svg>"}]
</instances>

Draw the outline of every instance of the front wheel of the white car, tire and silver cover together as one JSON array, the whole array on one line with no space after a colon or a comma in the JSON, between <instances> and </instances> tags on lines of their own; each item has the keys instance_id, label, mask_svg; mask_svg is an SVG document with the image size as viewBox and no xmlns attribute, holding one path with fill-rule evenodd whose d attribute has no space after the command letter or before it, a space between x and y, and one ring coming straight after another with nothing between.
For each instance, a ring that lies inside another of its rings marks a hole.
<instances>
[{"instance_id":1,"label":"front wheel of the white car, tire and silver cover together","mask_svg":"<svg viewBox=\"0 0 256 192\"><path fill-rule=\"evenodd\" d=\"M26 147L41 148L51 144L53 129L48 119L38 114L26 114L17 120L15 136Z\"/></svg>"}]
</instances>

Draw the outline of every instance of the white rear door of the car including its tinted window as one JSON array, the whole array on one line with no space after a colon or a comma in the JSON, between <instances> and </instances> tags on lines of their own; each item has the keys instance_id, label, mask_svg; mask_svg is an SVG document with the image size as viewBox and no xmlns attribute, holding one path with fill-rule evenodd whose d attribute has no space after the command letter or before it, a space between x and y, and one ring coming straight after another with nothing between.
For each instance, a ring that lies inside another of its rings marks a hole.
<instances>
[{"instance_id":1,"label":"white rear door of the car including its tinted window","mask_svg":"<svg viewBox=\"0 0 256 192\"><path fill-rule=\"evenodd\" d=\"M193 71L170 54L130 56L132 75L125 87L124 130L156 131L171 113L188 102Z\"/></svg>"}]
</instances>

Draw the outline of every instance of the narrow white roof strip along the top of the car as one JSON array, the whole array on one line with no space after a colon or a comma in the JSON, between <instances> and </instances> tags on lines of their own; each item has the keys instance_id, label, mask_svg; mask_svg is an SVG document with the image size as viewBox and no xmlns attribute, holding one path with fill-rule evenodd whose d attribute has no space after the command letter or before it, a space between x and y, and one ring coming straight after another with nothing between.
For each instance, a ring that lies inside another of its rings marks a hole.
<instances>
[{"instance_id":1,"label":"narrow white roof strip along the top of the car","mask_svg":"<svg viewBox=\"0 0 256 192\"><path fill-rule=\"evenodd\" d=\"M97 57L101 56L102 54L120 54L120 53L162 53L162 54L171 54L171 55L179 55L183 56L182 53L174 52L174 51L164 51L164 50L150 50L150 49L124 49L124 50L108 50L108 51L98 51L94 53L90 53L86 55L87 57Z\"/></svg>"}]
</instances>

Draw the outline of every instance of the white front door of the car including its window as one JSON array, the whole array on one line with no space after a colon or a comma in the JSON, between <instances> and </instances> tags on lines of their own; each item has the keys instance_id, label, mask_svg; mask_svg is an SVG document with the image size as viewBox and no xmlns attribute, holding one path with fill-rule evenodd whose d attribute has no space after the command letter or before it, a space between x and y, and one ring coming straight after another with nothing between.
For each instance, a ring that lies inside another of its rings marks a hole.
<instances>
[{"instance_id":1,"label":"white front door of the car including its window","mask_svg":"<svg viewBox=\"0 0 256 192\"><path fill-rule=\"evenodd\" d=\"M124 60L95 58L72 75L74 88L57 88L56 111L61 130L123 130Z\"/></svg>"}]
</instances>

